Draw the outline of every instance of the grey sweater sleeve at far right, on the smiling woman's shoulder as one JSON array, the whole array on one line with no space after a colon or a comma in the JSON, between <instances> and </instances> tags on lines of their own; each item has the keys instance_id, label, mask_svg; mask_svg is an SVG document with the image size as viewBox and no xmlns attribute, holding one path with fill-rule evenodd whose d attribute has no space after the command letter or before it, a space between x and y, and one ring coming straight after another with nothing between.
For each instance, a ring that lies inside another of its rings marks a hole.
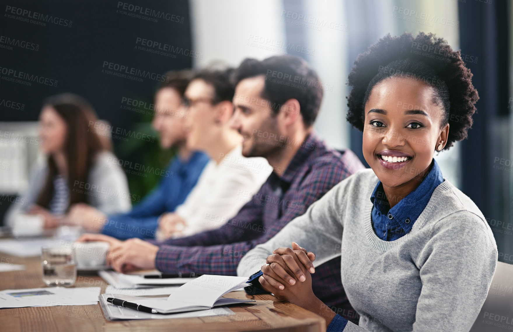
<instances>
[{"instance_id":1,"label":"grey sweater sleeve at far right, on the smiling woman's shoulder","mask_svg":"<svg viewBox=\"0 0 513 332\"><path fill-rule=\"evenodd\" d=\"M476 214L459 211L439 221L417 261L422 290L413 331L468 331L488 294L497 253Z\"/></svg>"}]
</instances>

